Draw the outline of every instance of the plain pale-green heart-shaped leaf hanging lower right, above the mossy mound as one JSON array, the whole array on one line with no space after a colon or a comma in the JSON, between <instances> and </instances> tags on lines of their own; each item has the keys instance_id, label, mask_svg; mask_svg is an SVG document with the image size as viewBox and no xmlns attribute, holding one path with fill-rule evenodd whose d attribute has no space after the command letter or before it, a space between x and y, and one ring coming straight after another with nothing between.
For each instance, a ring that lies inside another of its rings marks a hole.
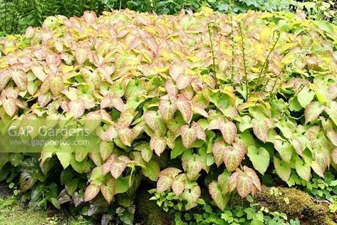
<instances>
[{"instance_id":1,"label":"plain pale-green heart-shaped leaf hanging lower right, above the mossy mound","mask_svg":"<svg viewBox=\"0 0 337 225\"><path fill-rule=\"evenodd\" d=\"M248 147L247 155L252 161L253 167L263 175L269 166L269 152L264 147L257 148L250 145Z\"/></svg>"}]
</instances>

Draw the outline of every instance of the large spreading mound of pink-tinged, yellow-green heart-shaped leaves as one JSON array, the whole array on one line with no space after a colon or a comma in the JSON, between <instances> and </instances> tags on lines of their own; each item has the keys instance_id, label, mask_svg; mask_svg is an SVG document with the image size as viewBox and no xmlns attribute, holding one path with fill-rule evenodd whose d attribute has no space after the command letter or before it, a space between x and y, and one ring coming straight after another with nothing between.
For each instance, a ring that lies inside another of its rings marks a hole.
<instances>
[{"instance_id":1,"label":"large spreading mound of pink-tinged, yellow-green heart-shaped leaves","mask_svg":"<svg viewBox=\"0 0 337 225\"><path fill-rule=\"evenodd\" d=\"M336 176L336 32L301 14L208 8L48 17L0 40L0 117L99 120L99 150L1 153L0 178L29 199L132 224L143 179L185 210L206 187L224 210L266 174Z\"/></svg>"}]
</instances>

